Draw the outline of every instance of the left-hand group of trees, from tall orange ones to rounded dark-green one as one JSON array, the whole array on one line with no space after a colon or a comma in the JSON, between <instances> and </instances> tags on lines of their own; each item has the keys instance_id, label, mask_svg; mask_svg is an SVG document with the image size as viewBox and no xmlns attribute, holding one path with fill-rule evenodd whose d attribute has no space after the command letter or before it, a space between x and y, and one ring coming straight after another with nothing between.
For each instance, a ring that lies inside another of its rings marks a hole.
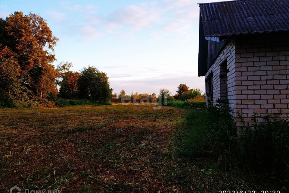
<instances>
[{"instance_id":1,"label":"left-hand group of trees, from tall orange ones to rounded dark-green one","mask_svg":"<svg viewBox=\"0 0 289 193\"><path fill-rule=\"evenodd\" d=\"M110 100L108 77L97 68L72 72L69 62L54 68L57 41L39 14L0 18L0 106L51 106L58 94L97 103Z\"/></svg>"}]
</instances>

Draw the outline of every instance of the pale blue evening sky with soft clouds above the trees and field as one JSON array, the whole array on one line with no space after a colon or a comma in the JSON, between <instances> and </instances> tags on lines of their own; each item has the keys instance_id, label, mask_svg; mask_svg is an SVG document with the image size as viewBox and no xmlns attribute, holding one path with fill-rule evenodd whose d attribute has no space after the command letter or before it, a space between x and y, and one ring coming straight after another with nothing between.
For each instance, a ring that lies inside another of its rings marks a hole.
<instances>
[{"instance_id":1,"label":"pale blue evening sky with soft clouds above the trees and field","mask_svg":"<svg viewBox=\"0 0 289 193\"><path fill-rule=\"evenodd\" d=\"M113 93L176 93L180 83L205 90L197 76L199 6L212 0L0 0L0 17L40 13L53 35L57 65L107 73Z\"/></svg>"}]
</instances>

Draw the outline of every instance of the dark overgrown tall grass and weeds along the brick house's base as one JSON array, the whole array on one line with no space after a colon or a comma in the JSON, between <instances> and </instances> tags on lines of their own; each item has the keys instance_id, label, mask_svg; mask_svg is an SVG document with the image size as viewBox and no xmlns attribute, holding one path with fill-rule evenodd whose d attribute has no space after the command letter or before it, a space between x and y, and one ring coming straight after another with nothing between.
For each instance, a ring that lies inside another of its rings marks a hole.
<instances>
[{"instance_id":1,"label":"dark overgrown tall grass and weeds along the brick house's base","mask_svg":"<svg viewBox=\"0 0 289 193\"><path fill-rule=\"evenodd\" d=\"M235 119L224 104L187 112L180 154L207 157L214 168L225 172L289 179L289 121L282 113L266 115L259 123L252 117L251 126L236 127ZM242 115L239 117L242 122ZM237 129L240 131L237 135Z\"/></svg>"}]
</instances>

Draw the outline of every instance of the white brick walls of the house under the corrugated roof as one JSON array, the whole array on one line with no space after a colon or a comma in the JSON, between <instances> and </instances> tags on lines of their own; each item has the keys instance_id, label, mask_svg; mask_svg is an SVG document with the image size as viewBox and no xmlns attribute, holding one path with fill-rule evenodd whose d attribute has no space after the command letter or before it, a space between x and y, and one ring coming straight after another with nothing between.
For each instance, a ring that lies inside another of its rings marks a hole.
<instances>
[{"instance_id":1,"label":"white brick walls of the house under the corrugated roof","mask_svg":"<svg viewBox=\"0 0 289 193\"><path fill-rule=\"evenodd\" d=\"M289 118L289 40L286 34L261 34L231 40L213 63L213 103L222 97L220 64L228 60L228 100L233 115L239 110L245 121L284 111ZM263 121L262 119L260 121Z\"/></svg>"}]
</instances>

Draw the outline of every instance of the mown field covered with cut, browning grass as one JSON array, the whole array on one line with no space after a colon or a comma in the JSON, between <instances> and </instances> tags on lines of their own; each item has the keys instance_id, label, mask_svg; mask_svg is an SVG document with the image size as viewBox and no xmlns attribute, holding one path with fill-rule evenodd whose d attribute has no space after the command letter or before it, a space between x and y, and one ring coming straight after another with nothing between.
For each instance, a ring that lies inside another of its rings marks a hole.
<instances>
[{"instance_id":1,"label":"mown field covered with cut, browning grass","mask_svg":"<svg viewBox=\"0 0 289 193\"><path fill-rule=\"evenodd\" d=\"M0 109L0 192L217 192L259 189L178 154L184 109L151 105Z\"/></svg>"}]
</instances>

